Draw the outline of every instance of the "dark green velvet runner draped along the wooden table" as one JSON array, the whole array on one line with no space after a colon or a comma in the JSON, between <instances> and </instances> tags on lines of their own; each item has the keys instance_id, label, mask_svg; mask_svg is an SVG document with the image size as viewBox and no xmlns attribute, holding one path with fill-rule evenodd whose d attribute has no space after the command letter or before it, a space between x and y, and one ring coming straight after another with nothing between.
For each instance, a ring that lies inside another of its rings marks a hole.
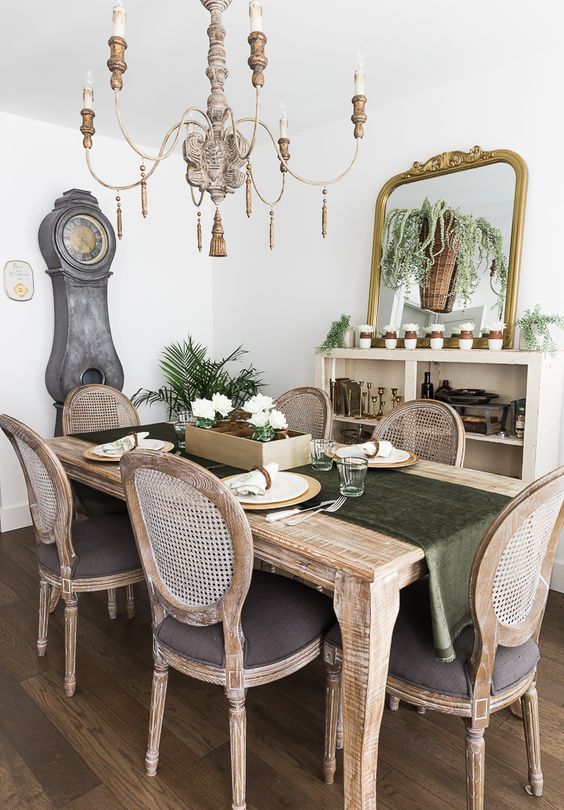
<instances>
[{"instance_id":1,"label":"dark green velvet runner draped along the wooden table","mask_svg":"<svg viewBox=\"0 0 564 810\"><path fill-rule=\"evenodd\" d=\"M175 441L172 425L148 425L151 438ZM166 430L166 437L163 431ZM131 428L80 434L98 444L127 435ZM186 454L218 478L238 472L217 462ZM310 466L294 470L321 483L318 500L339 497L336 467L328 472ZM101 493L98 493L101 495ZM107 496L106 496L107 497ZM453 642L471 623L470 571L478 544L491 521L510 499L460 484L450 484L397 470L368 470L364 495L348 498L335 517L419 546L429 569L429 596L437 658L452 661Z\"/></svg>"}]
</instances>

